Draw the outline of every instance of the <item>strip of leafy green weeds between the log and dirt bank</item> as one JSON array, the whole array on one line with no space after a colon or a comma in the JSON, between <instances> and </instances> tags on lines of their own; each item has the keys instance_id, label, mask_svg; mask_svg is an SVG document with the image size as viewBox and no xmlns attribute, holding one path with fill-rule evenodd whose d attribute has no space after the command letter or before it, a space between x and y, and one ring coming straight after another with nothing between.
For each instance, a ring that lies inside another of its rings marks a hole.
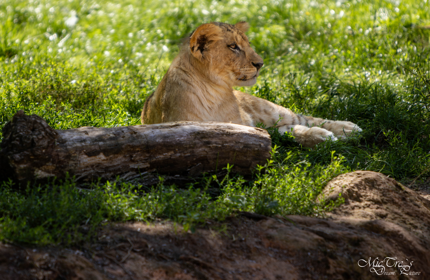
<instances>
[{"instance_id":1,"label":"strip of leafy green weeds between the log and dirt bank","mask_svg":"<svg viewBox=\"0 0 430 280\"><path fill-rule=\"evenodd\" d=\"M329 166L309 162L289 163L257 174L251 184L230 172L219 181L215 175L181 189L161 181L151 188L128 182L107 182L79 188L71 179L49 186L14 191L12 182L3 182L0 191L0 239L40 245L70 245L92 241L97 227L109 221L152 221L168 218L184 225L185 231L196 224L215 219L223 221L238 211L264 215L323 215L334 203L315 202L325 183L348 171L341 160ZM211 185L221 189L212 197ZM285 199L289 197L289 199Z\"/></svg>"}]
</instances>

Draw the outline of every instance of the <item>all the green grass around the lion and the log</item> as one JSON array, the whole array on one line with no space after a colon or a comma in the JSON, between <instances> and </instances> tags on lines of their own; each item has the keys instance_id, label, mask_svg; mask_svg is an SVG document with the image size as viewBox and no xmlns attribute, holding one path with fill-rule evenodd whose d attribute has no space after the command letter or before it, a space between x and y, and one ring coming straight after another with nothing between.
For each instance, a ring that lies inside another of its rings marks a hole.
<instances>
[{"instance_id":1,"label":"all the green grass around the lion and the log","mask_svg":"<svg viewBox=\"0 0 430 280\"><path fill-rule=\"evenodd\" d=\"M55 129L138 124L181 38L204 22L241 20L264 67L255 86L238 89L297 113L350 120L363 132L311 150L269 129L273 163L251 182L229 174L185 189L81 189L66 180L24 192L4 182L0 239L72 244L91 240L105 222L154 218L194 230L237 211L323 215L333 205L315 199L342 172L373 170L401 182L430 175L423 0L0 2L0 127L19 109Z\"/></svg>"}]
</instances>

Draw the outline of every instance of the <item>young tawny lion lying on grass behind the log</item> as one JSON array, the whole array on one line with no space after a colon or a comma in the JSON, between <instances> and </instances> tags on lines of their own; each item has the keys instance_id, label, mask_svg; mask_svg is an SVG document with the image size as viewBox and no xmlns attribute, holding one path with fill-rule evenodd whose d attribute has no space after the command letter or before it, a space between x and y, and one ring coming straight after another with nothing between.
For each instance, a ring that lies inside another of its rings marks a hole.
<instances>
[{"instance_id":1,"label":"young tawny lion lying on grass behind the log","mask_svg":"<svg viewBox=\"0 0 430 280\"><path fill-rule=\"evenodd\" d=\"M249 45L249 25L212 22L200 25L182 47L155 92L144 103L142 123L177 120L231 122L246 126L276 124L304 147L361 129L348 121L323 120L233 90L252 86L263 59ZM188 46L187 46L188 45Z\"/></svg>"}]
</instances>

